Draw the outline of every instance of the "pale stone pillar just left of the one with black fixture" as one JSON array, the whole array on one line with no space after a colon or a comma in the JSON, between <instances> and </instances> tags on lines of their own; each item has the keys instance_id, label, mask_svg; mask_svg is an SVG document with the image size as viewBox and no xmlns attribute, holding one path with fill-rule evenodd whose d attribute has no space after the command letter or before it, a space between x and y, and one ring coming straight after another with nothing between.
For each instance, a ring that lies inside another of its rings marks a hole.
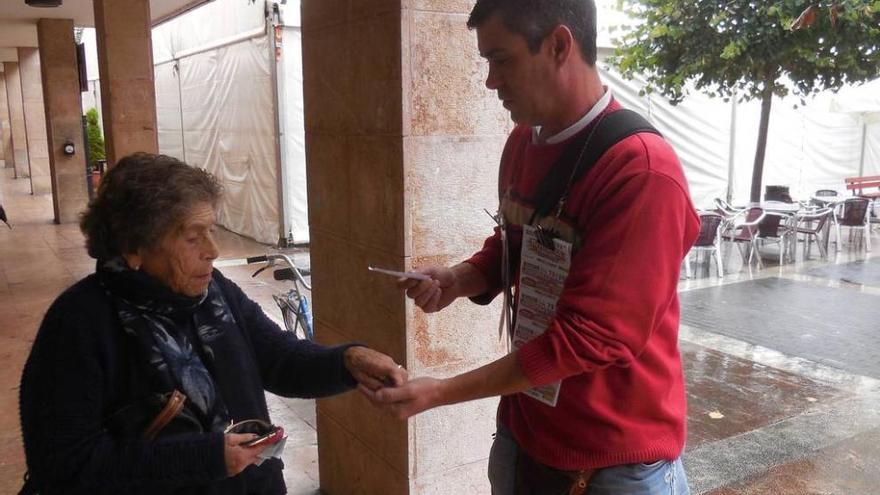
<instances>
[{"instance_id":1,"label":"pale stone pillar just left of the one with black fixture","mask_svg":"<svg viewBox=\"0 0 880 495\"><path fill-rule=\"evenodd\" d=\"M27 129L31 194L46 194L52 192L52 178L49 173L49 143L46 137L46 109L43 105L39 50L19 48L18 66L21 74L24 124Z\"/></svg>"}]
</instances>

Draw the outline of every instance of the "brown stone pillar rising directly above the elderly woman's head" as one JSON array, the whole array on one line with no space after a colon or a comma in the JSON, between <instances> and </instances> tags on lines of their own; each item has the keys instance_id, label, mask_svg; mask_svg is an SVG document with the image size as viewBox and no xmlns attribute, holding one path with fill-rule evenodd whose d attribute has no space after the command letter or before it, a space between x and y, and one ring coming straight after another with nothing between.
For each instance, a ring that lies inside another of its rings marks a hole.
<instances>
[{"instance_id":1,"label":"brown stone pillar rising directly above the elderly woman's head","mask_svg":"<svg viewBox=\"0 0 880 495\"><path fill-rule=\"evenodd\" d=\"M149 0L94 0L107 162L159 152Z\"/></svg>"}]
</instances>

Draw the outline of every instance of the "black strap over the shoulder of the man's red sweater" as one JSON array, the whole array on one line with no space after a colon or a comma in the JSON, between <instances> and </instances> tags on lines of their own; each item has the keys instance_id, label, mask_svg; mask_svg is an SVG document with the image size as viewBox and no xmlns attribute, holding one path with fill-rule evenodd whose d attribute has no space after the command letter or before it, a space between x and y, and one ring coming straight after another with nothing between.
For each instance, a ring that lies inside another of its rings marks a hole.
<instances>
[{"instance_id":1,"label":"black strap over the shoulder of the man's red sweater","mask_svg":"<svg viewBox=\"0 0 880 495\"><path fill-rule=\"evenodd\" d=\"M532 218L541 218L553 211L559 204L559 200L562 199L562 195L566 193L572 173L574 173L574 180L571 180L571 183L574 184L587 175L587 172L612 146L633 134L642 132L662 135L647 119L632 110L623 109L603 117L592 135L581 133L582 136L566 147L550 173L538 186L534 197L535 214ZM587 143L588 139L589 143ZM585 144L587 145L586 149L584 149ZM583 156L578 161L582 150Z\"/></svg>"}]
</instances>

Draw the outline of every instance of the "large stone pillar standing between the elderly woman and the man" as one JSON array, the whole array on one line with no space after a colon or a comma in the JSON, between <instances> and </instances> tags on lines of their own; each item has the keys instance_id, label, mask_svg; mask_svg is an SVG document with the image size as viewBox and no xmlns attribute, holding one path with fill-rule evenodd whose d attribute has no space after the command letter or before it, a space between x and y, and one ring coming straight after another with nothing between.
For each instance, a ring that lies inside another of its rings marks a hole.
<instances>
[{"instance_id":1,"label":"large stone pillar standing between the elderly woman and the man","mask_svg":"<svg viewBox=\"0 0 880 495\"><path fill-rule=\"evenodd\" d=\"M306 155L318 338L358 340L412 376L499 357L498 303L424 315L367 271L454 264L482 246L510 124L484 86L471 1L305 0ZM488 493L497 399L407 422L358 393L318 401L329 494Z\"/></svg>"}]
</instances>

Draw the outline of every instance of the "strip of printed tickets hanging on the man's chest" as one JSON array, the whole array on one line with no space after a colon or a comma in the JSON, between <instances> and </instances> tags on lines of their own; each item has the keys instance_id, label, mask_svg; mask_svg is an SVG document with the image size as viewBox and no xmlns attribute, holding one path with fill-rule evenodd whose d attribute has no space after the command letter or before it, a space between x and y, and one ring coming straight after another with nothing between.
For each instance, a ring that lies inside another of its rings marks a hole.
<instances>
[{"instance_id":1,"label":"strip of printed tickets hanging on the man's chest","mask_svg":"<svg viewBox=\"0 0 880 495\"><path fill-rule=\"evenodd\" d=\"M514 349L547 331L571 268L571 243L553 239L552 247L545 246L538 240L537 232L537 228L523 225ZM556 407L561 384L551 383L523 393Z\"/></svg>"}]
</instances>

